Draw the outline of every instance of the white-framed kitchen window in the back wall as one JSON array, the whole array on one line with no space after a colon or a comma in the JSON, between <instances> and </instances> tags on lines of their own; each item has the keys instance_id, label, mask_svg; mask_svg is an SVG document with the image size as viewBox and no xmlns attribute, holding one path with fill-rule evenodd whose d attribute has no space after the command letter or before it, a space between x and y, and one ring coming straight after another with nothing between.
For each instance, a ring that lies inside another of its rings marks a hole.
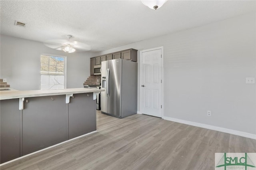
<instances>
[{"instance_id":1,"label":"white-framed kitchen window in the back wall","mask_svg":"<svg viewBox=\"0 0 256 170\"><path fill-rule=\"evenodd\" d=\"M41 90L66 88L66 57L40 55Z\"/></svg>"}]
</instances>

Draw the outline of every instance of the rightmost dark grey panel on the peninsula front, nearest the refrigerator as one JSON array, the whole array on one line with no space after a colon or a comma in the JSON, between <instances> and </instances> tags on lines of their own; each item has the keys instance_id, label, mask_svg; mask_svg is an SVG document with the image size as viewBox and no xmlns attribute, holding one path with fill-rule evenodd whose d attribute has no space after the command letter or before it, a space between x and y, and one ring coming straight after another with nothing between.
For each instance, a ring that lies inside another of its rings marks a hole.
<instances>
[{"instance_id":1,"label":"rightmost dark grey panel on the peninsula front, nearest the refrigerator","mask_svg":"<svg viewBox=\"0 0 256 170\"><path fill-rule=\"evenodd\" d=\"M68 138L96 130L96 100L93 93L74 94L68 103Z\"/></svg>"}]
</instances>

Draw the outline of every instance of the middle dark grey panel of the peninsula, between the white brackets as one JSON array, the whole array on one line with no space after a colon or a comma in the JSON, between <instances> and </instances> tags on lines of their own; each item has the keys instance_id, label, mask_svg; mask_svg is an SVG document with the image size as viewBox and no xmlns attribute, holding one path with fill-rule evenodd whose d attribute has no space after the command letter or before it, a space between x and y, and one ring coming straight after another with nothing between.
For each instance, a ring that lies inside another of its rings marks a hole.
<instances>
[{"instance_id":1,"label":"middle dark grey panel of the peninsula, between the white brackets","mask_svg":"<svg viewBox=\"0 0 256 170\"><path fill-rule=\"evenodd\" d=\"M25 98L22 155L68 140L67 117L66 95Z\"/></svg>"}]
</instances>

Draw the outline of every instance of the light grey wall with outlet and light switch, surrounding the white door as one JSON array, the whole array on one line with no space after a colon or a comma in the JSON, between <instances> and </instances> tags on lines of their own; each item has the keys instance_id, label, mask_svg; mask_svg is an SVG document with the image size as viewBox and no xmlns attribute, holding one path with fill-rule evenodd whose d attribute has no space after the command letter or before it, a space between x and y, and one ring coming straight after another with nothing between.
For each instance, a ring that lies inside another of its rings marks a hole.
<instances>
[{"instance_id":1,"label":"light grey wall with outlet and light switch, surrounding the white door","mask_svg":"<svg viewBox=\"0 0 256 170\"><path fill-rule=\"evenodd\" d=\"M160 46L165 117L256 134L256 86L245 84L246 77L256 75L255 13L97 55L128 48L138 49L140 55L141 50Z\"/></svg>"}]
</instances>

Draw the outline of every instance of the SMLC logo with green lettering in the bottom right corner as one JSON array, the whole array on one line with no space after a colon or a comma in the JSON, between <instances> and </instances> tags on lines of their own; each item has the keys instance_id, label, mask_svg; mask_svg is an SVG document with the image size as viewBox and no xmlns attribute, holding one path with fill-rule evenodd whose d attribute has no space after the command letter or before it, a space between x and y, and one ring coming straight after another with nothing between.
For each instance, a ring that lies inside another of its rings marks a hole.
<instances>
[{"instance_id":1,"label":"SMLC logo with green lettering in the bottom right corner","mask_svg":"<svg viewBox=\"0 0 256 170\"><path fill-rule=\"evenodd\" d=\"M223 154L220 158L218 164L216 164L216 168L224 167L224 170L228 167L228 169L238 169L239 167L247 170L248 167L256 168L252 159L248 156L247 153L215 153L215 163L216 163L216 154ZM256 156L256 153L251 153L252 156ZM255 160L254 160L255 161ZM240 169L239 168L239 169Z\"/></svg>"}]
</instances>

